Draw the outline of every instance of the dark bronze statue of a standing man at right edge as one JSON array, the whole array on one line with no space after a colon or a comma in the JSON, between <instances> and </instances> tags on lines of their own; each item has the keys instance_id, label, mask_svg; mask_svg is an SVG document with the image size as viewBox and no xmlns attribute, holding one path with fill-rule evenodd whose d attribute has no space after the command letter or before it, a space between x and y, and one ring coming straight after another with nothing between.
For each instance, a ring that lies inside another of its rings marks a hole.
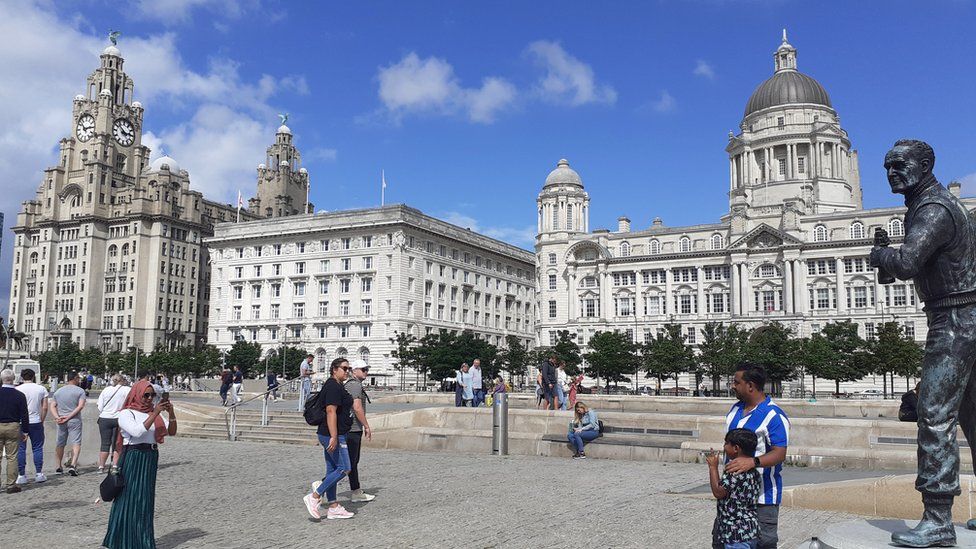
<instances>
[{"instance_id":1,"label":"dark bronze statue of a standing man at right edge","mask_svg":"<svg viewBox=\"0 0 976 549\"><path fill-rule=\"evenodd\" d=\"M959 489L962 425L976 458L976 221L932 175L935 152L903 139L885 155L891 191L905 195L905 241L876 246L871 265L913 279L925 303L928 338L918 391L918 477L925 512L918 526L891 540L909 547L956 543L952 500ZM976 521L970 521L970 528Z\"/></svg>"}]
</instances>

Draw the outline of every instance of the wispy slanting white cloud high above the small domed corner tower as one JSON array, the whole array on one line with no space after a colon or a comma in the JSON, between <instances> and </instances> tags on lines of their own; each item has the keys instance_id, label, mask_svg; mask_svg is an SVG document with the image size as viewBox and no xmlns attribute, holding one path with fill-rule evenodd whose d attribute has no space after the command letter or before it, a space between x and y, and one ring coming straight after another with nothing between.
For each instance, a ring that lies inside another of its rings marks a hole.
<instances>
[{"instance_id":1,"label":"wispy slanting white cloud high above the small domed corner tower","mask_svg":"<svg viewBox=\"0 0 976 549\"><path fill-rule=\"evenodd\" d=\"M535 86L536 94L544 100L574 107L617 101L616 90L598 84L593 68L567 53L558 42L539 40L529 44L526 51L545 69L545 76Z\"/></svg>"}]
</instances>

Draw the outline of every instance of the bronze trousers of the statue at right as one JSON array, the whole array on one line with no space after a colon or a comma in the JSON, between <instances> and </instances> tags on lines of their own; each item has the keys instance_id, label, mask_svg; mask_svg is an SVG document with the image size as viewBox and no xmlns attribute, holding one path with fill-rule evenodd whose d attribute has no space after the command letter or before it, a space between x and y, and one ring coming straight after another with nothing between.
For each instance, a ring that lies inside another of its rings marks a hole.
<instances>
[{"instance_id":1,"label":"bronze trousers of the statue at right","mask_svg":"<svg viewBox=\"0 0 976 549\"><path fill-rule=\"evenodd\" d=\"M918 389L918 478L923 499L958 496L956 427L976 457L976 304L927 311Z\"/></svg>"}]
</instances>

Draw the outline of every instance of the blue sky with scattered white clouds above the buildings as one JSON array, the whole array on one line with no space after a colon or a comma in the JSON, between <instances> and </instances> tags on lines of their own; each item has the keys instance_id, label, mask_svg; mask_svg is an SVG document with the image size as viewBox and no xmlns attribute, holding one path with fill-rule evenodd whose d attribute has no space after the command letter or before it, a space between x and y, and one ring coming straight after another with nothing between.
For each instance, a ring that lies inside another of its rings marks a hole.
<instances>
[{"instance_id":1,"label":"blue sky with scattered white clouds above the buildings","mask_svg":"<svg viewBox=\"0 0 976 549\"><path fill-rule=\"evenodd\" d=\"M145 107L144 143L235 202L278 113L317 210L387 203L531 249L535 198L567 158L590 226L717 221L729 130L786 28L860 155L866 207L903 137L976 194L972 0L931 2L0 0L0 315L12 233L109 30Z\"/></svg>"}]
</instances>

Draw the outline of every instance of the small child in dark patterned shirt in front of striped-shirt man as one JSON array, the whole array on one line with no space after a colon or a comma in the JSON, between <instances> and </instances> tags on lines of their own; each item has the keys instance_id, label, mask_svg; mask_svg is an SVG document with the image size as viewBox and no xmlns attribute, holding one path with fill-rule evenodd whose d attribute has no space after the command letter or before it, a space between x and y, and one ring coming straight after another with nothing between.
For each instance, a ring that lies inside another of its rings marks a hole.
<instances>
[{"instance_id":1,"label":"small child in dark patterned shirt in front of striped-shirt man","mask_svg":"<svg viewBox=\"0 0 976 549\"><path fill-rule=\"evenodd\" d=\"M732 429L725 434L726 460L755 455L757 443L756 433ZM719 477L718 454L710 452L705 461L712 495L718 499L719 541L725 549L755 549L759 538L756 500L762 490L759 471L752 469L737 475L723 472Z\"/></svg>"}]
</instances>

